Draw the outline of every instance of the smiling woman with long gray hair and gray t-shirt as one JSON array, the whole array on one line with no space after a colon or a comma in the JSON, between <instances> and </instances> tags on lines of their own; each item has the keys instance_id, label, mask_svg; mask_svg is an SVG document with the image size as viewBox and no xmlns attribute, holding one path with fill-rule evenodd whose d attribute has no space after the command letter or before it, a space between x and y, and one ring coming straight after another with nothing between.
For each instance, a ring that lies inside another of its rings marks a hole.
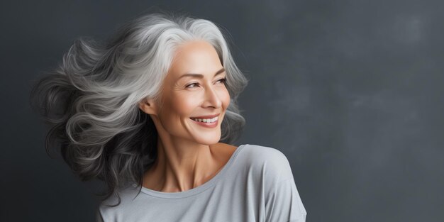
<instances>
[{"instance_id":1,"label":"smiling woman with long gray hair and gray t-shirt","mask_svg":"<svg viewBox=\"0 0 444 222\"><path fill-rule=\"evenodd\" d=\"M305 221L284 154L230 145L247 82L214 23L152 13L106 45L77 40L33 101L46 148L106 182L98 221Z\"/></svg>"}]
</instances>

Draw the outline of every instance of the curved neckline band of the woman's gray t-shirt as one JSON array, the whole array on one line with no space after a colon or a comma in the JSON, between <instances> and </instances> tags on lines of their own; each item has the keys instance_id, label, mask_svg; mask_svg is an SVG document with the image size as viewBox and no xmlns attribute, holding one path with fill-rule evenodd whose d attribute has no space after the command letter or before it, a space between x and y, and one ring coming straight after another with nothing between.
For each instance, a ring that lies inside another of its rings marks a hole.
<instances>
[{"instance_id":1,"label":"curved neckline band of the woman's gray t-shirt","mask_svg":"<svg viewBox=\"0 0 444 222\"><path fill-rule=\"evenodd\" d=\"M231 167L231 165L233 165L235 157L238 155L240 150L242 150L245 147L245 145L248 145L248 144L239 145L238 148L236 148L236 150L231 155L228 162L226 162L226 164L223 165L222 169L216 174L216 176L209 179L209 181L205 182L204 184L201 184L199 187L194 187L193 189L189 189L184 192L158 192L156 190L148 189L146 187L141 187L140 191L143 192L144 194L148 194L150 196L156 196L156 197L160 197L160 198L164 198L164 199L179 199L179 198L193 196L193 195L199 194L201 192L204 192L206 189L209 189L214 184L216 184L216 182L221 180L221 178L224 176L226 171L228 171L228 169ZM133 184L133 187L138 187L138 185Z\"/></svg>"}]
</instances>

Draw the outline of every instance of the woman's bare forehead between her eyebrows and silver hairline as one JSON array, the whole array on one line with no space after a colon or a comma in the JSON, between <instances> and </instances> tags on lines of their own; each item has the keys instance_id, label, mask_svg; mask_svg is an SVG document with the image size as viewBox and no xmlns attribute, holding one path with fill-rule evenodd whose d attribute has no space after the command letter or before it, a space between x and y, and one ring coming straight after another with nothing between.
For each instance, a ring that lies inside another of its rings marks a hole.
<instances>
[{"instance_id":1,"label":"woman's bare forehead between her eyebrows and silver hairline","mask_svg":"<svg viewBox=\"0 0 444 222\"><path fill-rule=\"evenodd\" d=\"M169 74L180 77L187 72L216 72L222 67L216 49L203 40L187 42L177 47Z\"/></svg>"}]
</instances>

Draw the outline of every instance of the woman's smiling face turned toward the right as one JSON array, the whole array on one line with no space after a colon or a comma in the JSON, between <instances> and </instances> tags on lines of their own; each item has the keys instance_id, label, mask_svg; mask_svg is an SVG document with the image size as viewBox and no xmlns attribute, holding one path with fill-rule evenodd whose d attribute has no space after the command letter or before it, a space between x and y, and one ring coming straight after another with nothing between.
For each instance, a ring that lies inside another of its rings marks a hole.
<instances>
[{"instance_id":1,"label":"woman's smiling face turned toward the right","mask_svg":"<svg viewBox=\"0 0 444 222\"><path fill-rule=\"evenodd\" d=\"M192 41L180 45L163 83L162 106L157 104L157 110L152 111L157 131L172 139L218 143L230 104L225 78L226 72L211 44Z\"/></svg>"}]
</instances>

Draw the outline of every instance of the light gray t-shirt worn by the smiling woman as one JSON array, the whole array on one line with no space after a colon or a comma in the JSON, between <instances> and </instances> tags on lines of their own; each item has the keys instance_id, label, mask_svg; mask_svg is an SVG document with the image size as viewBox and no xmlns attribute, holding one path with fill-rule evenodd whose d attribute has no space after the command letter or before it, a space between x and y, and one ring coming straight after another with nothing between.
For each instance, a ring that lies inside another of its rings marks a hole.
<instances>
[{"instance_id":1,"label":"light gray t-shirt worn by the smiling woman","mask_svg":"<svg viewBox=\"0 0 444 222\"><path fill-rule=\"evenodd\" d=\"M99 206L97 221L305 221L306 210L285 155L274 148L240 145L209 181L184 192L137 185Z\"/></svg>"}]
</instances>

